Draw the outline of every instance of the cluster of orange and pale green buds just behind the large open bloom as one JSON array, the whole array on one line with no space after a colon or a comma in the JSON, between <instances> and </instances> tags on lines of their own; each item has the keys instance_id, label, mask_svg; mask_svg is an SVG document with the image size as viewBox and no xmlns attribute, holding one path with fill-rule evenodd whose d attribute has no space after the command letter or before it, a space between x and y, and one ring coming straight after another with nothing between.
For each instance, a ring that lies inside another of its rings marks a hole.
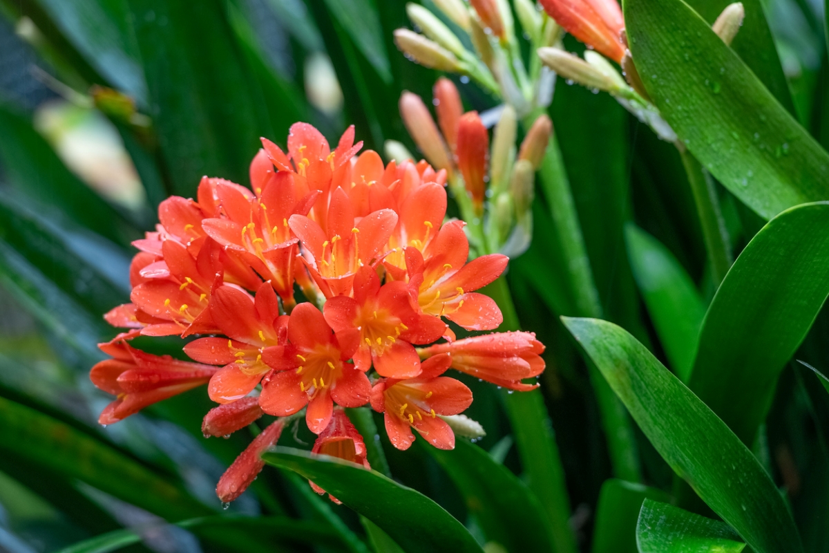
<instances>
[{"instance_id":1,"label":"cluster of orange and pale green buds just behind the large open bloom","mask_svg":"<svg viewBox=\"0 0 829 553\"><path fill-rule=\"evenodd\" d=\"M463 113L451 80L444 77L434 85L433 104L438 124L424 101L410 92L400 97L400 114L429 163L446 172L468 221L473 250L478 255L521 255L532 235L535 174L552 133L550 118L539 115L516 152L518 121L511 105L502 107L490 146L487 127L478 112ZM395 157L394 151L390 154Z\"/></svg>"}]
</instances>

